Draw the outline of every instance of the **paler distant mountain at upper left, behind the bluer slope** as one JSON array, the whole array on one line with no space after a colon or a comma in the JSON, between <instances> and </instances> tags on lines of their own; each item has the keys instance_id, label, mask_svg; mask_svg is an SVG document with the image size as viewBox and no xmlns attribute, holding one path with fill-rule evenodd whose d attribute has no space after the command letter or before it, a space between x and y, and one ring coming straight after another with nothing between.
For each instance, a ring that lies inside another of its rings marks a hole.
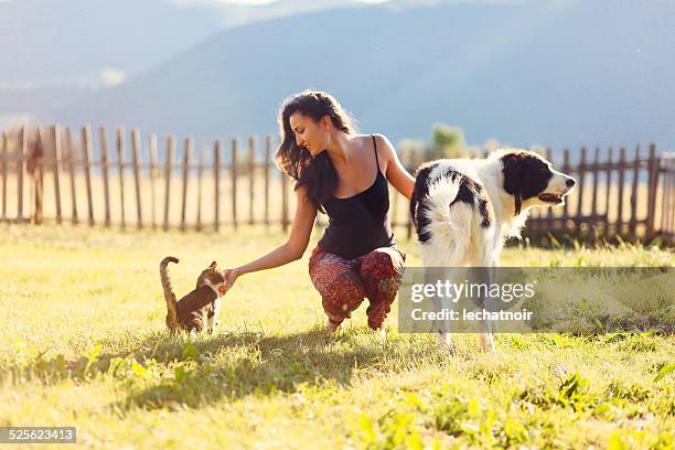
<instances>
[{"instance_id":1,"label":"paler distant mountain at upper left, behind the bluer slope","mask_svg":"<svg viewBox=\"0 0 675 450\"><path fill-rule=\"evenodd\" d=\"M354 2L0 0L0 124L119 84L216 31L338 6Z\"/></svg>"}]
</instances>

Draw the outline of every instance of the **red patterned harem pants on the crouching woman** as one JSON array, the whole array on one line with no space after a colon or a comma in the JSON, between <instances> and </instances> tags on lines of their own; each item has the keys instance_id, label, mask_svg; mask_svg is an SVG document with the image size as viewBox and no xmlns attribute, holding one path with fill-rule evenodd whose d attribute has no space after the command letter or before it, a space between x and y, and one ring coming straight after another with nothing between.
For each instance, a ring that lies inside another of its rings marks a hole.
<instances>
[{"instance_id":1,"label":"red patterned harem pants on the crouching woman","mask_svg":"<svg viewBox=\"0 0 675 450\"><path fill-rule=\"evenodd\" d=\"M406 254L395 247L376 248L354 259L317 247L309 260L309 274L332 323L349 319L367 297L368 326L377 330L392 309L405 260Z\"/></svg>"}]
</instances>

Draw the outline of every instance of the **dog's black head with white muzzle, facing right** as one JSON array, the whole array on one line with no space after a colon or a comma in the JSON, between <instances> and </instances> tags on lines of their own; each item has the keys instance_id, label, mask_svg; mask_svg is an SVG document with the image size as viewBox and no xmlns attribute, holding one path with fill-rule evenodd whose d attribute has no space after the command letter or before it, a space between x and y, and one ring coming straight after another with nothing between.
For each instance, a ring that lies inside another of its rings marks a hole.
<instances>
[{"instance_id":1,"label":"dog's black head with white muzzle, facing right","mask_svg":"<svg viewBox=\"0 0 675 450\"><path fill-rule=\"evenodd\" d=\"M515 215L524 206L560 205L575 185L575 179L554 170L550 162L527 150L500 153L504 191L514 196Z\"/></svg>"}]
</instances>

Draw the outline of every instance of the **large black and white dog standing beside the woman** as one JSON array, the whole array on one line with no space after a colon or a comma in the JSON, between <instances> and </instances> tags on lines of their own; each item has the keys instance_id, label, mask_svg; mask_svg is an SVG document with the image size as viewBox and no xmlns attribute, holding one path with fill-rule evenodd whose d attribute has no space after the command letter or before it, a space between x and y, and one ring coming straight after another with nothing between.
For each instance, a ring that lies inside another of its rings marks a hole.
<instances>
[{"instance_id":1,"label":"large black and white dog standing beside the woman","mask_svg":"<svg viewBox=\"0 0 675 450\"><path fill-rule=\"evenodd\" d=\"M497 267L507 237L519 237L533 206L564 203L575 180L536 153L497 150L485 159L430 161L419 167L410 199L420 257L430 267ZM437 308L442 308L435 299ZM453 351L447 321L439 344ZM479 325L481 350L494 352L489 321Z\"/></svg>"}]
</instances>

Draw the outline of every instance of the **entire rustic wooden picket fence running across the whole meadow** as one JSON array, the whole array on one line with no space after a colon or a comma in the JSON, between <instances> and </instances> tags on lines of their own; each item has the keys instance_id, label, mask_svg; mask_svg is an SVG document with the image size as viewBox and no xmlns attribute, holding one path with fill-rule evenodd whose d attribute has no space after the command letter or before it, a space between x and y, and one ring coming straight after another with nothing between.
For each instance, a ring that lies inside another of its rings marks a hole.
<instances>
[{"instance_id":1,"label":"entire rustic wooden picket fence running across the whole meadow","mask_svg":"<svg viewBox=\"0 0 675 450\"><path fill-rule=\"evenodd\" d=\"M168 137L161 153L157 136L143 144L138 129L127 133L117 128L114 149L103 127L96 137L89 126L76 133L60 126L22 127L1 137L4 222L86 221L122 229L215 232L265 224L286 231L294 208L292 183L274 165L277 142L269 136L218 140L201 151L195 151L193 138L179 148L176 139ZM526 235L673 240L675 156L657 154L654 144L646 151L636 147L630 154L624 148L581 149L578 161L571 161L567 149L561 161L550 149L546 153L577 185L565 206L535 210ZM411 173L419 162L404 158ZM410 237L407 200L390 192L393 226ZM320 215L317 226L324 225Z\"/></svg>"}]
</instances>

